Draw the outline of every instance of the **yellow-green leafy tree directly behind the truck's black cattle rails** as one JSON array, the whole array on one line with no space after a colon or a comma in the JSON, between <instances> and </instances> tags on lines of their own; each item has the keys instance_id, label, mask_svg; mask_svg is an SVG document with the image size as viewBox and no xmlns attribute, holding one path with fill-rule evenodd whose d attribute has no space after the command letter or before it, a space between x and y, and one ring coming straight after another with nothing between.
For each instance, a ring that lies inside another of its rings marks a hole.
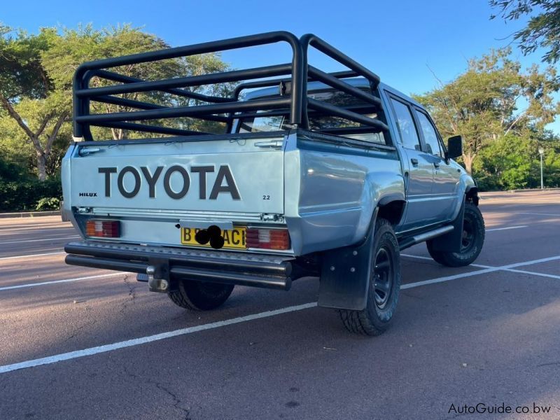
<instances>
[{"instance_id":1,"label":"yellow-green leafy tree directly behind the truck's black cattle rails","mask_svg":"<svg viewBox=\"0 0 560 420\"><path fill-rule=\"evenodd\" d=\"M109 27L106 29L95 30L91 25L79 27L78 29L64 29L62 36L52 47L43 53L43 65L52 75L54 83L60 90L67 92L71 97L72 76L76 68L86 61L101 59L106 57L116 57L120 55L136 54L139 52L161 50L169 48L161 38L151 34L146 34L130 25L120 27ZM197 74L215 73L225 71L228 64L225 64L217 54L203 54L192 57L177 59L165 59L157 62L132 64L111 69L125 76L139 78L143 80L155 80L162 78L172 78L177 76L190 76ZM90 87L100 87L109 85L111 82L104 79L92 78ZM228 91L228 85L218 85L211 90L204 87L193 87L195 92L209 94L220 94ZM188 106L195 101L185 97L176 97L172 94L163 92L137 92L123 94L125 99L132 99L142 102L153 102L166 106ZM99 104L92 102L92 113L116 113L134 111L125 106L112 104ZM171 122L158 121L160 125L169 125ZM201 124L200 120L183 118L181 120L183 128L187 130L197 130L196 124ZM122 129L94 129L94 134L99 137L110 135L114 140L124 139L132 135L127 130ZM145 135L145 134L144 134Z\"/></svg>"}]
</instances>

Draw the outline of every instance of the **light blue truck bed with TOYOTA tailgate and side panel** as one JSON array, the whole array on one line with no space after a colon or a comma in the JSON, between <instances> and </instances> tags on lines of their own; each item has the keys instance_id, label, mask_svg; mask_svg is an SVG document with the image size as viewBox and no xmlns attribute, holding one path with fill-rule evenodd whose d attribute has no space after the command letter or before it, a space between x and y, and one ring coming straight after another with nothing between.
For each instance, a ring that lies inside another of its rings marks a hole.
<instances>
[{"instance_id":1,"label":"light blue truck bed with TOYOTA tailgate and side panel","mask_svg":"<svg viewBox=\"0 0 560 420\"><path fill-rule=\"evenodd\" d=\"M290 249L224 252L284 255L356 243L379 192L404 188L393 147L306 130L76 142L62 172L64 212L85 239L104 217L120 237L103 241L179 248L201 247L181 244L181 228L269 226L288 228Z\"/></svg>"}]
</instances>

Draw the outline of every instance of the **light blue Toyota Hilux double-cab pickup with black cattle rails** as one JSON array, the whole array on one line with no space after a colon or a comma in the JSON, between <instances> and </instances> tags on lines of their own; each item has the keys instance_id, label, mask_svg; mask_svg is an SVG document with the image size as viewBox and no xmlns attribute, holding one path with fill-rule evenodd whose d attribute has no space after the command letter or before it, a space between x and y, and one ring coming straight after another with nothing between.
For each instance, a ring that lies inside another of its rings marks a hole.
<instances>
[{"instance_id":1,"label":"light blue Toyota Hilux double-cab pickup with black cattle rails","mask_svg":"<svg viewBox=\"0 0 560 420\"><path fill-rule=\"evenodd\" d=\"M123 71L270 43L288 44L290 59L160 80ZM310 48L347 70L311 66ZM421 104L314 35L102 59L73 83L64 216L83 241L66 244L68 264L135 272L190 310L219 307L235 285L288 290L318 276L320 306L379 335L397 306L402 249L425 241L451 267L481 251L477 187L452 160L461 137L444 145ZM94 140L107 128L130 134Z\"/></svg>"}]
</instances>

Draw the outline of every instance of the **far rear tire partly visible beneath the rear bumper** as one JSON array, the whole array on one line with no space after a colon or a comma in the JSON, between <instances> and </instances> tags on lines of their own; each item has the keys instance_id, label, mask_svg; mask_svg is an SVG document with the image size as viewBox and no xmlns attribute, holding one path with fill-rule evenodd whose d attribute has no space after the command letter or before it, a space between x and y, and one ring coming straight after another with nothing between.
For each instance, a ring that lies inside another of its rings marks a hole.
<instances>
[{"instance_id":1,"label":"far rear tire partly visible beneath the rear bumper","mask_svg":"<svg viewBox=\"0 0 560 420\"><path fill-rule=\"evenodd\" d=\"M220 307L232 294L235 286L206 281L181 280L179 289L167 295L172 302L191 311L209 311Z\"/></svg>"}]
</instances>

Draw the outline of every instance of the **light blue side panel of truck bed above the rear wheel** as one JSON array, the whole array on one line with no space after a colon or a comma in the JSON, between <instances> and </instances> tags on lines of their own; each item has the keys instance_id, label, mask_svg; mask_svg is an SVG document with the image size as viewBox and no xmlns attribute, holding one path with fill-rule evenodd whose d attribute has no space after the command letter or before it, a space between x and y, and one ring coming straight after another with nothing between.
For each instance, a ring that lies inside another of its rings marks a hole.
<instances>
[{"instance_id":1,"label":"light blue side panel of truck bed above the rear wheel","mask_svg":"<svg viewBox=\"0 0 560 420\"><path fill-rule=\"evenodd\" d=\"M404 200L396 151L290 137L284 155L285 216L296 255L356 244L379 200Z\"/></svg>"}]
</instances>

